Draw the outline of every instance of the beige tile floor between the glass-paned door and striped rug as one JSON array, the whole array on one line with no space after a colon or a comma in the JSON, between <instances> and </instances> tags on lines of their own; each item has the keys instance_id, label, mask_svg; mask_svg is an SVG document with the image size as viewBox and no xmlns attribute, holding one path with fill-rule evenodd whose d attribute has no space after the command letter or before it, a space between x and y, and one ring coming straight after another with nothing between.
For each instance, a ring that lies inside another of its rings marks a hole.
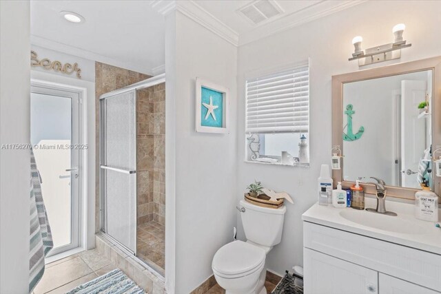
<instances>
[{"instance_id":1,"label":"beige tile floor between the glass-paned door and striped rug","mask_svg":"<svg viewBox=\"0 0 441 294\"><path fill-rule=\"evenodd\" d=\"M61 294L116 269L116 265L96 249L70 255L46 264L43 278L34 294Z\"/></svg>"}]
</instances>

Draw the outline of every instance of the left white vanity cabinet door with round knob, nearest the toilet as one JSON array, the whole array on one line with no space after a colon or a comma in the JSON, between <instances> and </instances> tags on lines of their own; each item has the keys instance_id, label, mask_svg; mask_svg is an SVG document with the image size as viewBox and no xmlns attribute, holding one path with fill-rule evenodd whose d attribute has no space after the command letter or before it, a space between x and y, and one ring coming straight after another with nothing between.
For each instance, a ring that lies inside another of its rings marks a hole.
<instances>
[{"instance_id":1,"label":"left white vanity cabinet door with round knob, nearest the toilet","mask_svg":"<svg viewBox=\"0 0 441 294\"><path fill-rule=\"evenodd\" d=\"M305 294L378 294L378 272L307 249Z\"/></svg>"}]
</instances>

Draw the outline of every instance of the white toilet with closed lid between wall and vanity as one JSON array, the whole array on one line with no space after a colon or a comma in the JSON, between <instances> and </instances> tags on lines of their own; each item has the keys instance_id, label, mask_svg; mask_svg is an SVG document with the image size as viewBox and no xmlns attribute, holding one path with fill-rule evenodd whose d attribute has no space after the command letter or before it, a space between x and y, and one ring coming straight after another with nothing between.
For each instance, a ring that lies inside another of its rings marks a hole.
<instances>
[{"instance_id":1,"label":"white toilet with closed lid between wall and vanity","mask_svg":"<svg viewBox=\"0 0 441 294\"><path fill-rule=\"evenodd\" d=\"M240 201L240 213L247 242L233 241L214 255L216 282L226 294L265 294L265 258L280 243L286 207L271 209Z\"/></svg>"}]
</instances>

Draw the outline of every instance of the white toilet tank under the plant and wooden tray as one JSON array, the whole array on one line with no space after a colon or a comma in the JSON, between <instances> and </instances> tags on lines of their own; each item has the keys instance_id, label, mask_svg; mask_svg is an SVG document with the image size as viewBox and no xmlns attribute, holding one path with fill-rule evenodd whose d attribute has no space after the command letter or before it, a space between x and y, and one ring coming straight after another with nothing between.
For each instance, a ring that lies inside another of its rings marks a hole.
<instances>
[{"instance_id":1,"label":"white toilet tank under the plant and wooden tray","mask_svg":"<svg viewBox=\"0 0 441 294\"><path fill-rule=\"evenodd\" d=\"M287 211L285 205L274 209L240 200L240 206L245 207L245 212L240 213L240 216L247 240L269 247L280 243Z\"/></svg>"}]
</instances>

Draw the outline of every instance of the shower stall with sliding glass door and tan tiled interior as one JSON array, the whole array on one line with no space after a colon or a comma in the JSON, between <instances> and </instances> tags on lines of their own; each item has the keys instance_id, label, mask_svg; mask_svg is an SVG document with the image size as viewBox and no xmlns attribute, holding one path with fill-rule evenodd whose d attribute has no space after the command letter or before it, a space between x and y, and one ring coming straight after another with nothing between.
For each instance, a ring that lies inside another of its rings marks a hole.
<instances>
[{"instance_id":1,"label":"shower stall with sliding glass door and tan tiled interior","mask_svg":"<svg viewBox=\"0 0 441 294\"><path fill-rule=\"evenodd\" d=\"M164 275L165 74L100 96L101 231Z\"/></svg>"}]
</instances>

